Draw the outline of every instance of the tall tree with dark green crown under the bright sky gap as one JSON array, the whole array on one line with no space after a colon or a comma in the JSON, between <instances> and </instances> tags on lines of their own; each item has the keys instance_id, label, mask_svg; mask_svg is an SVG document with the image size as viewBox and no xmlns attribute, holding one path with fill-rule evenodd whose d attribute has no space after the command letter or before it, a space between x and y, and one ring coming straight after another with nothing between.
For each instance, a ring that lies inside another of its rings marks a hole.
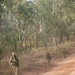
<instances>
[{"instance_id":1,"label":"tall tree with dark green crown under the bright sky gap","mask_svg":"<svg viewBox=\"0 0 75 75\"><path fill-rule=\"evenodd\" d=\"M27 43L33 40L34 36L34 20L35 20L35 13L36 13L36 7L33 4L32 1L26 1L25 4L19 4L18 5L18 14L20 18L22 19L22 32L23 32L23 40L25 41L25 45L27 48ZM27 41L30 40L30 41ZM31 46L30 46L31 48Z\"/></svg>"}]
</instances>

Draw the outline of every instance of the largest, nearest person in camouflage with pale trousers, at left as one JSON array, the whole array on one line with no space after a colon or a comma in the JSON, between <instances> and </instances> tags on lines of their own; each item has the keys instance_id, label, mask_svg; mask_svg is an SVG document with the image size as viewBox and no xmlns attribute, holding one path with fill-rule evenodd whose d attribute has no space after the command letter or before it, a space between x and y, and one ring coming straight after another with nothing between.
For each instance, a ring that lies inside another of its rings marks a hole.
<instances>
[{"instance_id":1,"label":"largest, nearest person in camouflage with pale trousers, at left","mask_svg":"<svg viewBox=\"0 0 75 75\"><path fill-rule=\"evenodd\" d=\"M12 52L12 55L9 59L9 64L12 66L14 74L18 75L19 60L14 52Z\"/></svg>"}]
</instances>

